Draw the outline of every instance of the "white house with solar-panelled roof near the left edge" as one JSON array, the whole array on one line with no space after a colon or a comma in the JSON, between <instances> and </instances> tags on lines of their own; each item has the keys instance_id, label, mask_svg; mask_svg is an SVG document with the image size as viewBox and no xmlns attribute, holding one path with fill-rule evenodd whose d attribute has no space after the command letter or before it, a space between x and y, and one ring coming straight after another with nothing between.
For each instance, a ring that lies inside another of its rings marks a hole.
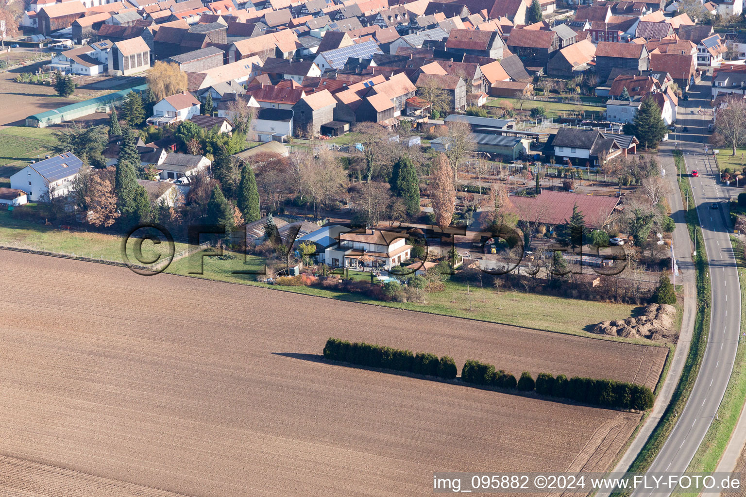
<instances>
[{"instance_id":1,"label":"white house with solar-panelled roof near the left edge","mask_svg":"<svg viewBox=\"0 0 746 497\"><path fill-rule=\"evenodd\" d=\"M25 191L28 200L45 202L52 197L69 194L72 191L72 180L78 176L83 167L81 159L72 152L44 159L25 168L10 177L10 188Z\"/></svg>"}]
</instances>

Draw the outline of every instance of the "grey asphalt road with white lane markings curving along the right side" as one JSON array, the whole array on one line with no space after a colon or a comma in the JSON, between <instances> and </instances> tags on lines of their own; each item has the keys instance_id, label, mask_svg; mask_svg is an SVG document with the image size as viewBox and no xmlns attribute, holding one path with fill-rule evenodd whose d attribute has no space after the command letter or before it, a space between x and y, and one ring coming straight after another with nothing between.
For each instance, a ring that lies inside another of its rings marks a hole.
<instances>
[{"instance_id":1,"label":"grey asphalt road with white lane markings curving along the right side","mask_svg":"<svg viewBox=\"0 0 746 497\"><path fill-rule=\"evenodd\" d=\"M709 78L703 83L689 92L689 101L679 101L677 124L689 127L689 132L677 133L676 138L679 148L685 154L684 174L689 175L709 257L712 320L707 332L702 367L689 402L649 472L686 471L723 399L733 370L740 333L741 291L727 222L727 200L738 191L718 184L715 160L704 153L709 137L707 124L712 115L696 113L698 107L709 109ZM691 113L692 110L695 110L694 114ZM697 170L699 176L692 177L692 170ZM712 203L718 203L719 209L712 209ZM646 497L651 493L645 491L636 495Z\"/></svg>"}]
</instances>

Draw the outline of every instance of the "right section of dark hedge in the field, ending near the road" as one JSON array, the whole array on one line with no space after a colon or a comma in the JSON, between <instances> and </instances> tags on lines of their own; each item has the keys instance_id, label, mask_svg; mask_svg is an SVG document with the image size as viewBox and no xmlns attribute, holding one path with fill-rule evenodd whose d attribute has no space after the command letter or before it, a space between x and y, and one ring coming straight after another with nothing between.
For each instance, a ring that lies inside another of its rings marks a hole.
<instances>
[{"instance_id":1,"label":"right section of dark hedge in the field, ending near the road","mask_svg":"<svg viewBox=\"0 0 746 497\"><path fill-rule=\"evenodd\" d=\"M609 408L634 409L645 411L653 407L653 392L639 384L615 382L607 379L580 378L567 379L565 375L552 376L539 373L534 382L530 373L524 371L516 384L515 377L503 370L495 371L492 364L468 360L461 372L466 383L501 387L507 390L521 390L571 399L584 404L601 405Z\"/></svg>"}]
</instances>

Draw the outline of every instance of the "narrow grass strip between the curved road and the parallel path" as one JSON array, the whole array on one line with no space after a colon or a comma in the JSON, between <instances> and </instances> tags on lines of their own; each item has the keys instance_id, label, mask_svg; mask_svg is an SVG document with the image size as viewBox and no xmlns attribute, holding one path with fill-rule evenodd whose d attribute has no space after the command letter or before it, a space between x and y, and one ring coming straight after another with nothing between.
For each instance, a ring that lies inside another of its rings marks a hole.
<instances>
[{"instance_id":1,"label":"narrow grass strip between the curved road and the parallel path","mask_svg":"<svg viewBox=\"0 0 746 497\"><path fill-rule=\"evenodd\" d=\"M677 167L679 167L680 162L683 161L683 155L681 155L681 153L674 153L674 161L676 162ZM689 180L679 178L679 188L681 189L682 197L689 199L688 205L686 206L686 223L689 227L689 236L692 240L696 239L697 247L700 247L694 260L697 290L695 329L694 334L692 335L692 344L689 347L689 355L686 357L686 363L684 364L679 384L677 385L676 390L674 390L674 395L671 397L671 402L668 404L668 408L666 408L665 413L658 422L655 430L653 430L651 437L648 438L645 446L642 447L637 458L630 466L630 472L645 472L653 463L653 460L656 458L656 455L658 455L658 452L660 452L665 441L668 440L668 435L671 434L671 431L674 429L681 412L683 412L686 401L689 400L692 388L695 386L706 348L706 341L703 341L703 338L706 338L707 329L709 329L712 300L710 282L707 275L707 254L704 250L704 239L702 230L700 229L697 207L692 198ZM614 495L627 496L629 493L615 493Z\"/></svg>"}]
</instances>

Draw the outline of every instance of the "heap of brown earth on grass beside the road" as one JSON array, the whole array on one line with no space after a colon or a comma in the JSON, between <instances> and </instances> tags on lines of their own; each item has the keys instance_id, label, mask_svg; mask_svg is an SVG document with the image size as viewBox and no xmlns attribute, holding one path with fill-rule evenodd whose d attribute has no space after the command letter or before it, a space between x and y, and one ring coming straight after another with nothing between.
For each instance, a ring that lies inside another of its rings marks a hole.
<instances>
[{"instance_id":1,"label":"heap of brown earth on grass beside the road","mask_svg":"<svg viewBox=\"0 0 746 497\"><path fill-rule=\"evenodd\" d=\"M668 304L650 304L636 317L604 321L593 326L592 333L615 335L624 338L649 338L655 341L674 342L679 332L674 329L676 308Z\"/></svg>"}]
</instances>

